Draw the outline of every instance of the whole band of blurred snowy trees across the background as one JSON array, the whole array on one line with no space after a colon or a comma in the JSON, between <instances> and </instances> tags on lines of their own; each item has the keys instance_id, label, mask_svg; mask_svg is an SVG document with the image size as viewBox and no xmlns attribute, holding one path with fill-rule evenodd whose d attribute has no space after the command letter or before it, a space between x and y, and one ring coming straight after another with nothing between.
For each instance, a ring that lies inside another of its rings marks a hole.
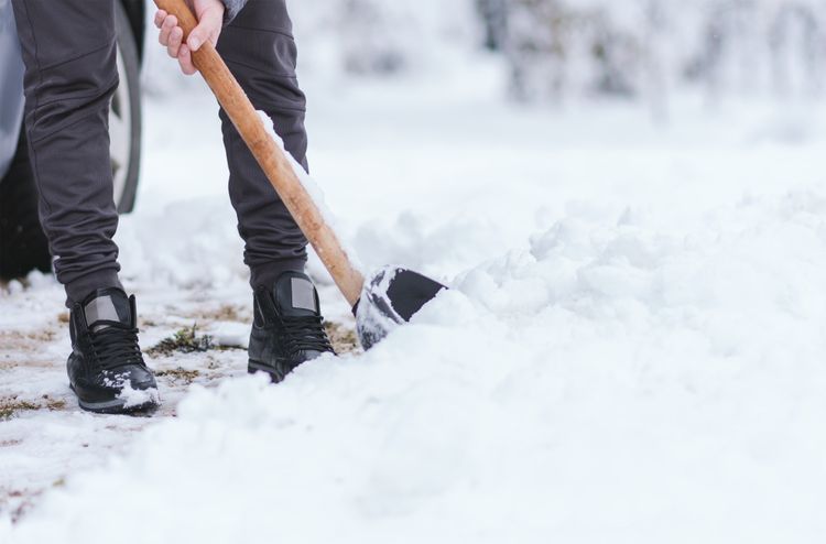
<instances>
[{"instance_id":1,"label":"whole band of blurred snowy trees across the background","mask_svg":"<svg viewBox=\"0 0 826 544\"><path fill-rule=\"evenodd\" d=\"M501 58L520 100L618 96L656 105L686 87L709 98L811 98L824 90L826 0L290 0L289 7L304 74L444 74L487 48ZM148 64L161 69L152 58ZM154 84L152 74L148 79Z\"/></svg>"}]
</instances>

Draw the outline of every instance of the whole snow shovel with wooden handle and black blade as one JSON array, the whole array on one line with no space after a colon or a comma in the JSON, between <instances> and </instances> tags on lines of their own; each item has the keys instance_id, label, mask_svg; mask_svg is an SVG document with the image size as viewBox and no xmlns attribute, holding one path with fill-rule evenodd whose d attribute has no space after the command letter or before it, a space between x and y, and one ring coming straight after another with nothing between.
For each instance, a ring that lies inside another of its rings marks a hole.
<instances>
[{"instance_id":1,"label":"whole snow shovel with wooden handle and black blade","mask_svg":"<svg viewBox=\"0 0 826 544\"><path fill-rule=\"evenodd\" d=\"M197 20L184 0L154 2L160 9L177 18L186 42ZM193 64L213 89L261 170L352 307L356 330L365 349L384 338L392 328L409 322L439 291L446 289L430 278L400 266L384 266L371 278L365 279L350 262L290 160L267 130L252 102L213 44L205 43L193 52L192 57Z\"/></svg>"}]
</instances>

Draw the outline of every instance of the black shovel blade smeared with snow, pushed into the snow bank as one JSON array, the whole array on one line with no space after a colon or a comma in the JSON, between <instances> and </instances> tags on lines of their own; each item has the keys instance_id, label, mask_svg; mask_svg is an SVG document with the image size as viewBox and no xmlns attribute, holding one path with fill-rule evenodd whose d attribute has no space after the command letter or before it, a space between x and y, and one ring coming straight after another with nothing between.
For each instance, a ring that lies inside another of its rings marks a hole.
<instances>
[{"instance_id":1,"label":"black shovel blade smeared with snow, pushed into the snow bank","mask_svg":"<svg viewBox=\"0 0 826 544\"><path fill-rule=\"evenodd\" d=\"M385 266L365 282L356 303L356 330L365 349L384 338L393 328L436 297L445 285L412 270Z\"/></svg>"}]
</instances>

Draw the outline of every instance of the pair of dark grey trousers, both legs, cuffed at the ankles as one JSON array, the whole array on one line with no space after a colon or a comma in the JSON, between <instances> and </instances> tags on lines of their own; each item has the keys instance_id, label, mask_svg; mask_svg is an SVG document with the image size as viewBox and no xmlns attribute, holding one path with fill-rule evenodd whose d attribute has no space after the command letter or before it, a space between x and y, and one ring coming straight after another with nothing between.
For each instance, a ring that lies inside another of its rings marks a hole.
<instances>
[{"instance_id":1,"label":"pair of dark grey trousers, both legs, cuffed at the ankles","mask_svg":"<svg viewBox=\"0 0 826 544\"><path fill-rule=\"evenodd\" d=\"M40 215L69 301L119 286L108 112L118 86L117 0L12 0L25 64L25 128ZM257 109L306 167L305 98L285 0L250 0L218 51ZM155 41L148 40L148 46ZM173 62L172 59L170 62ZM302 270L306 240L221 111L229 195L251 283Z\"/></svg>"}]
</instances>

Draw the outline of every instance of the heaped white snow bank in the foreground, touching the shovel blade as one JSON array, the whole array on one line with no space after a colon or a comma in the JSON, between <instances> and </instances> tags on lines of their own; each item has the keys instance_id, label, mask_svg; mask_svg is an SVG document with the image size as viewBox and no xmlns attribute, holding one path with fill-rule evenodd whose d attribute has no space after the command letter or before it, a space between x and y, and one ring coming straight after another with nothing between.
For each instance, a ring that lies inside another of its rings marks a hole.
<instances>
[{"instance_id":1,"label":"heaped white snow bank in the foreground, touching the shovel blade","mask_svg":"<svg viewBox=\"0 0 826 544\"><path fill-rule=\"evenodd\" d=\"M826 197L661 220L573 208L361 357L194 391L0 537L816 542Z\"/></svg>"}]
</instances>

